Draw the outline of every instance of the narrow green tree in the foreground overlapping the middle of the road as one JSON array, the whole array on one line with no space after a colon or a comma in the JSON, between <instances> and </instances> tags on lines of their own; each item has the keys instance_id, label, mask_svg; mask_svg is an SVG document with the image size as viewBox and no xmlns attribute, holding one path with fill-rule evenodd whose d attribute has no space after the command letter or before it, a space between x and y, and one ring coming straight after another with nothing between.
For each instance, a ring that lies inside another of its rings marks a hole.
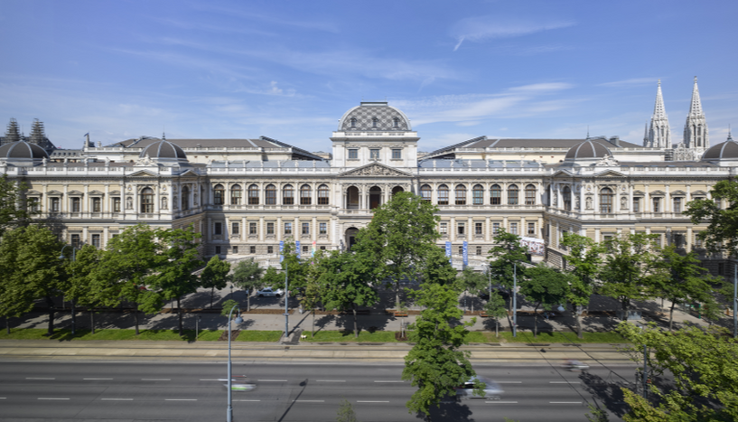
<instances>
[{"instance_id":1,"label":"narrow green tree in the foreground overlapping the middle of the road","mask_svg":"<svg viewBox=\"0 0 738 422\"><path fill-rule=\"evenodd\" d=\"M452 324L462 318L456 306L459 291L453 285L425 281L420 290L410 292L425 310L410 324L410 342L415 346L405 357L402 379L410 380L415 393L406 403L408 410L422 413L430 420L430 408L440 406L442 399L454 396L454 387L470 380L475 372L469 362L469 352L460 350L467 344L467 328L474 320ZM482 396L484 384L474 386L474 394Z\"/></svg>"}]
</instances>

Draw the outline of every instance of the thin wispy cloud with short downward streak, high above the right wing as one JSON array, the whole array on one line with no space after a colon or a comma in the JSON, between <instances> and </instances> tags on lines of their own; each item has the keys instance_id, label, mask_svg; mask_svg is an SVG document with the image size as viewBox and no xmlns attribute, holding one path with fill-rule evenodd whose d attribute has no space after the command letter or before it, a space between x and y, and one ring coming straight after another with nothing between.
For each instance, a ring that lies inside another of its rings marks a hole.
<instances>
[{"instance_id":1,"label":"thin wispy cloud with short downward streak, high above the right wing","mask_svg":"<svg viewBox=\"0 0 738 422\"><path fill-rule=\"evenodd\" d=\"M523 20L487 15L462 19L452 26L450 33L456 39L456 45L453 47L453 51L455 52L461 47L462 42L466 40L481 42L497 38L518 37L530 33L566 28L574 24L572 21L564 20Z\"/></svg>"}]
</instances>

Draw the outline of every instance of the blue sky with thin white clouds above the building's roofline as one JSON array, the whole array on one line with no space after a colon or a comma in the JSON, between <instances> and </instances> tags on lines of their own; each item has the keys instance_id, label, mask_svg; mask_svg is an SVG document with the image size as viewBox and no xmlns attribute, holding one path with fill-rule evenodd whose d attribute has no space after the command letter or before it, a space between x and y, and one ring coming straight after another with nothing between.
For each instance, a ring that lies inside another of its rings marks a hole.
<instances>
[{"instance_id":1,"label":"blue sky with thin white clouds above the building's roofline","mask_svg":"<svg viewBox=\"0 0 738 422\"><path fill-rule=\"evenodd\" d=\"M734 1L2 5L0 122L66 148L165 130L330 151L362 99L403 110L423 151L587 127L640 144L659 78L676 143L694 76L711 144L738 125Z\"/></svg>"}]
</instances>

